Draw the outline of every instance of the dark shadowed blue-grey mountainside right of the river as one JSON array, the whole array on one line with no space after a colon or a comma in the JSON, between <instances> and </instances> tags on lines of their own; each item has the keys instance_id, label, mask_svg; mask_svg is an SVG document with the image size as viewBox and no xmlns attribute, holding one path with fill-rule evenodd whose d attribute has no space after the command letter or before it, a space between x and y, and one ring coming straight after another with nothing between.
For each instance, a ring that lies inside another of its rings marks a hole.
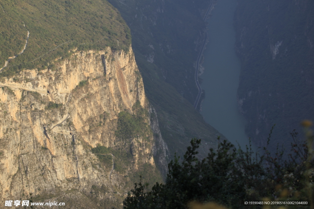
<instances>
[{"instance_id":1,"label":"dark shadowed blue-grey mountainside right of the river","mask_svg":"<svg viewBox=\"0 0 314 209\"><path fill-rule=\"evenodd\" d=\"M314 2L238 0L236 50L241 58L238 89L246 133L265 145L290 145L300 121L314 119Z\"/></svg>"}]
</instances>

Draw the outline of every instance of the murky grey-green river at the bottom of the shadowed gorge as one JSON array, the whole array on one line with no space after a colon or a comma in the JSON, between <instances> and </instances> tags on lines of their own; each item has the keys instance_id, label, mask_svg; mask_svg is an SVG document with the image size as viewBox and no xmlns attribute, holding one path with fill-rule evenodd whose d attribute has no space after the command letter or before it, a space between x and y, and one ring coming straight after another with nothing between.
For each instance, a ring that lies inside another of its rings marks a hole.
<instances>
[{"instance_id":1,"label":"murky grey-green river at the bottom of the shadowed gorge","mask_svg":"<svg viewBox=\"0 0 314 209\"><path fill-rule=\"evenodd\" d=\"M204 72L201 87L205 90L202 111L205 121L229 141L245 149L249 139L246 121L238 110L240 60L236 55L236 33L233 26L236 0L219 0L208 21L208 44L203 52ZM255 148L253 149L255 150Z\"/></svg>"}]
</instances>

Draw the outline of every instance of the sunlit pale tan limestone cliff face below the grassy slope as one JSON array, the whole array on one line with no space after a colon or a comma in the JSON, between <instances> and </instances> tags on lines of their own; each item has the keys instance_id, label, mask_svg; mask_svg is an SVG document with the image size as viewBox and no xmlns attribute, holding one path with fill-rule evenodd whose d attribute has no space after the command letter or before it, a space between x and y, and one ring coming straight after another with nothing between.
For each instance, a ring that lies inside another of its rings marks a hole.
<instances>
[{"instance_id":1,"label":"sunlit pale tan limestone cliff face below the grassy slope","mask_svg":"<svg viewBox=\"0 0 314 209\"><path fill-rule=\"evenodd\" d=\"M158 173L167 157L132 49L76 51L50 66L0 82L0 204L85 198L86 208L121 206L132 176L143 167ZM136 103L153 131L122 140L118 114ZM97 145L111 148L105 163L91 152Z\"/></svg>"}]
</instances>

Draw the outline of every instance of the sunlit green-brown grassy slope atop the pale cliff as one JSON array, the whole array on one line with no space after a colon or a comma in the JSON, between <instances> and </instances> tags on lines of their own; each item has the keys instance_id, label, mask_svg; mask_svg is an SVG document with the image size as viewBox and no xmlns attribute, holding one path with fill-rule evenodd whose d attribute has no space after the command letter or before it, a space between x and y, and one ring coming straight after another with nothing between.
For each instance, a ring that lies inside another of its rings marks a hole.
<instances>
[{"instance_id":1,"label":"sunlit green-brown grassy slope atop the pale cliff","mask_svg":"<svg viewBox=\"0 0 314 209\"><path fill-rule=\"evenodd\" d=\"M26 0L1 2L0 76L12 76L23 68L44 69L60 57L78 50L128 50L130 29L116 8L106 0ZM24 27L25 24L25 27ZM119 40L119 47L118 41Z\"/></svg>"}]
</instances>

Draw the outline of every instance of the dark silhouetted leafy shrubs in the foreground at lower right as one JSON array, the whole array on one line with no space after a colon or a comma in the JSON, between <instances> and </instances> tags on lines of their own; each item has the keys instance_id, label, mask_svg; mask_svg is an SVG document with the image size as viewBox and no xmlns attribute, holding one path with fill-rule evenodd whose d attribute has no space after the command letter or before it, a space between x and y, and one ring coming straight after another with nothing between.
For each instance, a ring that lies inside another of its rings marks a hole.
<instances>
[{"instance_id":1,"label":"dark silhouetted leafy shrubs in the foreground at lower right","mask_svg":"<svg viewBox=\"0 0 314 209\"><path fill-rule=\"evenodd\" d=\"M254 154L251 147L243 151L223 141L216 150L210 149L203 160L196 157L201 140L193 138L182 162L175 155L169 163L165 183L156 183L150 191L148 185L135 184L123 202L124 208L188 208L192 201L216 202L230 208L261 208L246 206L244 201L312 201L313 135L309 130L306 133L308 144L300 144L297 133L291 133L295 144L291 144L289 155L278 148L272 155L267 147L263 155ZM268 142L269 139L270 134Z\"/></svg>"}]
</instances>

